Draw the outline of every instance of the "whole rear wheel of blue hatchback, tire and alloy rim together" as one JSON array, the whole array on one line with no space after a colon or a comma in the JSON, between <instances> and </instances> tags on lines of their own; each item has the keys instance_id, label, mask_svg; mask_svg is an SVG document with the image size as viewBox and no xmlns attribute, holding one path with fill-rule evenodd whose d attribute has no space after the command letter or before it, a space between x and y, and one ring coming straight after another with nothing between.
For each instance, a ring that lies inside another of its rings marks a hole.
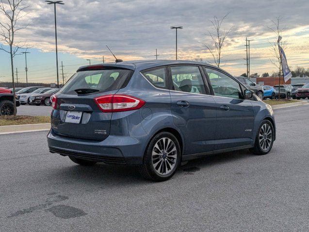
<instances>
[{"instance_id":1,"label":"whole rear wheel of blue hatchback, tire and alloy rim together","mask_svg":"<svg viewBox=\"0 0 309 232\"><path fill-rule=\"evenodd\" d=\"M150 140L139 171L146 179L165 181L175 174L179 161L179 141L169 132L160 132Z\"/></svg>"}]
</instances>

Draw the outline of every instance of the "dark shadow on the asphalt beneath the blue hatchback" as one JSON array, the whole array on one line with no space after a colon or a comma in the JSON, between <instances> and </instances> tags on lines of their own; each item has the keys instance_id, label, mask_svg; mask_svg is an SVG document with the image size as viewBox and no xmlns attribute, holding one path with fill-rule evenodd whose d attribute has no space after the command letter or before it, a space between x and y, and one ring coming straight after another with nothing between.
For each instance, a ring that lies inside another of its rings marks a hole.
<instances>
[{"instance_id":1,"label":"dark shadow on the asphalt beneath the blue hatchback","mask_svg":"<svg viewBox=\"0 0 309 232\"><path fill-rule=\"evenodd\" d=\"M212 165L222 165L228 162L235 162L240 159L250 159L252 154L248 150L228 152L216 154L209 157L191 160L187 164L179 166L176 173L176 178L184 174L182 171L195 172L200 168L207 168ZM67 157L66 157L67 158ZM68 158L67 158L68 159ZM52 178L61 177L61 181L65 184L90 184L90 185L104 185L104 186L117 186L117 185L144 185L146 183L154 183L147 181L141 177L137 167L125 165L107 165L97 163L94 166L80 166L71 163L65 167L58 167L52 170ZM175 177L174 177L175 178Z\"/></svg>"}]
</instances>

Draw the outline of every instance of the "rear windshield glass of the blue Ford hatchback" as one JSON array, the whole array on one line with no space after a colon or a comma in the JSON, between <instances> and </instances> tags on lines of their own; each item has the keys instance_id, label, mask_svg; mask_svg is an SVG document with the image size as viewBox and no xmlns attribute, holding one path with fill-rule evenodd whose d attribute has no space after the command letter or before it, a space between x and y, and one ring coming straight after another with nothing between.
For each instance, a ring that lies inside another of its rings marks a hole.
<instances>
[{"instance_id":1,"label":"rear windshield glass of the blue Ford hatchback","mask_svg":"<svg viewBox=\"0 0 309 232\"><path fill-rule=\"evenodd\" d=\"M128 69L106 69L94 71L81 71L76 73L62 88L63 94L77 94L74 90L79 88L98 89L107 92L121 88L133 74Z\"/></svg>"}]
</instances>

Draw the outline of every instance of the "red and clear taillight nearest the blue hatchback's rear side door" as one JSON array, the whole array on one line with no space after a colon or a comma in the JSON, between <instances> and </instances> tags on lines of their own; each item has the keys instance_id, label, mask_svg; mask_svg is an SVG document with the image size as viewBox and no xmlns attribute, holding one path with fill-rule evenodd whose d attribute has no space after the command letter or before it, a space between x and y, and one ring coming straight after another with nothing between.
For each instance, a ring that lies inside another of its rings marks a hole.
<instances>
[{"instance_id":1,"label":"red and clear taillight nearest the blue hatchback's rear side door","mask_svg":"<svg viewBox=\"0 0 309 232\"><path fill-rule=\"evenodd\" d=\"M94 99L102 112L121 112L138 110L145 101L123 94L104 95Z\"/></svg>"}]
</instances>

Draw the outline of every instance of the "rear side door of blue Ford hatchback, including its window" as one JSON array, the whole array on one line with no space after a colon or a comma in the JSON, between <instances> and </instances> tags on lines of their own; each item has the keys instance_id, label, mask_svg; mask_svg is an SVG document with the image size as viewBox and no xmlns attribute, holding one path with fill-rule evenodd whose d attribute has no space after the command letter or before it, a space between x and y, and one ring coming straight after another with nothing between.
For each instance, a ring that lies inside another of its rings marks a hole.
<instances>
[{"instance_id":1,"label":"rear side door of blue Ford hatchback, including its window","mask_svg":"<svg viewBox=\"0 0 309 232\"><path fill-rule=\"evenodd\" d=\"M212 152L216 109L202 68L169 66L171 109L185 140L184 154Z\"/></svg>"}]
</instances>

